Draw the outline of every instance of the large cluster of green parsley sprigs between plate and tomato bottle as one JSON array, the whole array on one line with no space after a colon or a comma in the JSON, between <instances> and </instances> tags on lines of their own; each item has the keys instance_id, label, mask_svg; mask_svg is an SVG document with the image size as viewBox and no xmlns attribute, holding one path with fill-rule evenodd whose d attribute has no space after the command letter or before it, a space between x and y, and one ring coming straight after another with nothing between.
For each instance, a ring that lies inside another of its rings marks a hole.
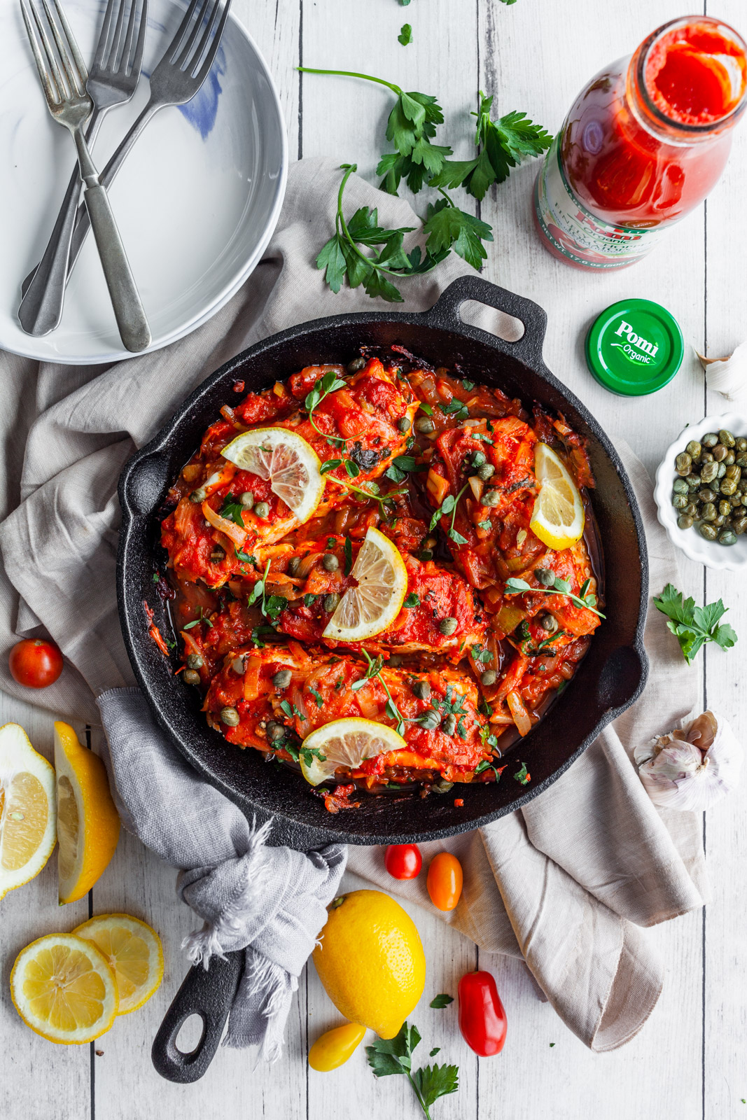
<instances>
[{"instance_id":1,"label":"large cluster of green parsley sprigs between plate and tomato bottle","mask_svg":"<svg viewBox=\"0 0 747 1120\"><path fill-rule=\"evenodd\" d=\"M422 233L424 253L415 246L410 253L403 248L404 235L413 227L387 230L379 225L377 209L361 207L346 222L343 195L355 164L344 164L345 172L337 194L335 234L317 256L317 268L325 270L325 279L338 292L347 278L351 288L363 284L371 297L389 302L401 302L402 295L393 280L428 272L454 251L473 268L480 268L487 256L485 242L493 241L493 230L486 222L460 209L448 189L464 187L475 198L484 198L488 187L503 183L522 159L545 151L551 137L534 124L525 113L511 112L494 121L491 116L493 97L479 92L477 156L471 160L449 160L452 149L433 142L443 110L436 97L401 86L371 74L357 71L316 69L300 66L306 74L334 74L375 82L391 90L395 102L386 122L386 139L394 151L384 152L376 175L382 176L380 187L395 195L402 179L418 194L423 187L438 192L440 198L429 202ZM448 189L447 189L448 188ZM382 246L382 248L377 248ZM364 252L368 250L368 252Z\"/></svg>"}]
</instances>

